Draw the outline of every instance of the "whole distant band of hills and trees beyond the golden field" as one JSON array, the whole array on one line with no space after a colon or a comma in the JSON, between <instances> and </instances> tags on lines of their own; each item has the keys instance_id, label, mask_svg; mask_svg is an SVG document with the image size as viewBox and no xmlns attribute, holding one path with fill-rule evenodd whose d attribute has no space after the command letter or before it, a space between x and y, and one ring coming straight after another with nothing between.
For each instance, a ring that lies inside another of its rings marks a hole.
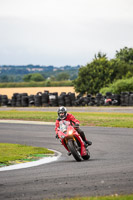
<instances>
[{"instance_id":1,"label":"whole distant band of hills and trees beyond the golden field","mask_svg":"<svg viewBox=\"0 0 133 200\"><path fill-rule=\"evenodd\" d=\"M3 65L0 66L0 82L30 82L30 81L63 81L74 80L77 78L78 69L77 66L39 66L39 65L25 65L25 66L12 66Z\"/></svg>"}]
</instances>

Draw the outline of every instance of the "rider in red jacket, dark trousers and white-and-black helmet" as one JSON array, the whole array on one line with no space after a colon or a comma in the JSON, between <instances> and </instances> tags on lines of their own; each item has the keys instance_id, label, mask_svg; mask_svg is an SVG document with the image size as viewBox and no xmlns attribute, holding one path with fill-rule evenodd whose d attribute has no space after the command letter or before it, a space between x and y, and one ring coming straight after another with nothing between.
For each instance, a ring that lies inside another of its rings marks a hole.
<instances>
[{"instance_id":1,"label":"rider in red jacket, dark trousers and white-and-black helmet","mask_svg":"<svg viewBox=\"0 0 133 200\"><path fill-rule=\"evenodd\" d=\"M80 134L81 138L83 139L84 143L88 146L92 145L91 141L88 141L85 137L84 132L79 128L79 120L77 120L72 114L67 113L67 109L64 106L61 106L58 109L58 118L55 123L55 132L56 132L56 138L58 138L58 128L60 126L61 120L70 121L70 123L75 127L76 131Z\"/></svg>"}]
</instances>

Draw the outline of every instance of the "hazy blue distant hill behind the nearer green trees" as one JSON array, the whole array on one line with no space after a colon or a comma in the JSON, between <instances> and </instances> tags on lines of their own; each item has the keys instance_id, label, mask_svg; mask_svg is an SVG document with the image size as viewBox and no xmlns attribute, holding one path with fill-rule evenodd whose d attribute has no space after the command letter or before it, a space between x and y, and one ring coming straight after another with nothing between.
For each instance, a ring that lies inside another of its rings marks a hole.
<instances>
[{"instance_id":1,"label":"hazy blue distant hill behind the nearer green trees","mask_svg":"<svg viewBox=\"0 0 133 200\"><path fill-rule=\"evenodd\" d=\"M73 80L77 77L80 65L77 66L43 66L43 65L0 65L0 82L21 82L23 76L31 73L41 73L45 78L66 72Z\"/></svg>"}]
</instances>

